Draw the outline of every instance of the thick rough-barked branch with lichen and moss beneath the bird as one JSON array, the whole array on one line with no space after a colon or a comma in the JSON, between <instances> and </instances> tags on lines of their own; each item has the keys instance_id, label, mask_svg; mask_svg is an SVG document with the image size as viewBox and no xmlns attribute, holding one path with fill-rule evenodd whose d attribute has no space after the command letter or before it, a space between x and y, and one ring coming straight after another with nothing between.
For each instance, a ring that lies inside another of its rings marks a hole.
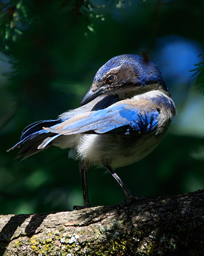
<instances>
[{"instance_id":1,"label":"thick rough-barked branch with lichen and moss beneath the bird","mask_svg":"<svg viewBox=\"0 0 204 256\"><path fill-rule=\"evenodd\" d=\"M204 190L140 198L118 211L0 215L0 256L203 255Z\"/></svg>"}]
</instances>

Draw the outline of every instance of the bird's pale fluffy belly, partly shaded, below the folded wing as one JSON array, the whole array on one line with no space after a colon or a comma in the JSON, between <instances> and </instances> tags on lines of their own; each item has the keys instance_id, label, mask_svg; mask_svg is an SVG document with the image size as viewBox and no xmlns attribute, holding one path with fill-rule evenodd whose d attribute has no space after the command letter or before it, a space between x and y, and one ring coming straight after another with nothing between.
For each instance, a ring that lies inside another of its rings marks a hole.
<instances>
[{"instance_id":1,"label":"bird's pale fluffy belly, partly shaded, below the folded wing","mask_svg":"<svg viewBox=\"0 0 204 256\"><path fill-rule=\"evenodd\" d=\"M150 152L160 143L164 133L151 134L83 134L74 154L70 156L82 159L89 165L102 165L105 162L113 168L134 163Z\"/></svg>"}]
</instances>

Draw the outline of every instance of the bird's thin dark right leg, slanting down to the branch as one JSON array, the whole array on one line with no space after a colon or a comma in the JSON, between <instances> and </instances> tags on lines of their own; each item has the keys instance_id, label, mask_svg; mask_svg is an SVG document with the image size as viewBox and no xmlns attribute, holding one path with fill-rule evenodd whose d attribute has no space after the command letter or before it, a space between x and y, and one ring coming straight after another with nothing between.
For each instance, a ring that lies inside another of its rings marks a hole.
<instances>
[{"instance_id":1,"label":"bird's thin dark right leg, slanting down to the branch","mask_svg":"<svg viewBox=\"0 0 204 256\"><path fill-rule=\"evenodd\" d=\"M124 193L125 193L125 200L120 203L120 207L124 207L127 204L135 201L136 199L138 199L138 197L136 197L135 195L133 195L133 193L124 185L124 183L122 182L122 180L118 177L118 175L114 172L113 168L111 168L110 165L106 164L106 163L102 163L104 165L104 167L109 170L109 172L112 174L112 176L116 179L116 181L118 181L118 183L120 184L120 186L122 187Z\"/></svg>"}]
</instances>

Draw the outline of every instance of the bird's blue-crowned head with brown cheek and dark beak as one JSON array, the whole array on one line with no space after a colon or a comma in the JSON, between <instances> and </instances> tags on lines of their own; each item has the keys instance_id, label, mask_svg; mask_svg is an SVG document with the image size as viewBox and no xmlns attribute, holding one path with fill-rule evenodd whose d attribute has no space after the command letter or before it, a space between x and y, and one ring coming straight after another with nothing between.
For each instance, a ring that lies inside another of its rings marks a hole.
<instances>
[{"instance_id":1,"label":"bird's blue-crowned head with brown cheek and dark beak","mask_svg":"<svg viewBox=\"0 0 204 256\"><path fill-rule=\"evenodd\" d=\"M158 89L170 95L157 66L138 55L123 54L113 57L98 70L81 106L102 94L125 99Z\"/></svg>"}]
</instances>

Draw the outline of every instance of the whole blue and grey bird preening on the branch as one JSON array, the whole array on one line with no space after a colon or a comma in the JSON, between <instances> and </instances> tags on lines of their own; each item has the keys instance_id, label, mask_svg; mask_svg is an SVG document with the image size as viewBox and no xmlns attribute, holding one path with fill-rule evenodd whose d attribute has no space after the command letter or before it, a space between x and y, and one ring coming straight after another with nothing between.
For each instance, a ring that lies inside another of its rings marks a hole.
<instances>
[{"instance_id":1,"label":"whole blue and grey bird preening on the branch","mask_svg":"<svg viewBox=\"0 0 204 256\"><path fill-rule=\"evenodd\" d=\"M177 110L158 67L135 54L122 54L107 61L96 72L80 107L55 120L27 126L16 158L23 159L49 147L69 148L69 157L79 160L83 206L89 202L86 172L92 166L106 168L122 187L124 207L138 199L127 188L115 168L134 163L160 143Z\"/></svg>"}]
</instances>

